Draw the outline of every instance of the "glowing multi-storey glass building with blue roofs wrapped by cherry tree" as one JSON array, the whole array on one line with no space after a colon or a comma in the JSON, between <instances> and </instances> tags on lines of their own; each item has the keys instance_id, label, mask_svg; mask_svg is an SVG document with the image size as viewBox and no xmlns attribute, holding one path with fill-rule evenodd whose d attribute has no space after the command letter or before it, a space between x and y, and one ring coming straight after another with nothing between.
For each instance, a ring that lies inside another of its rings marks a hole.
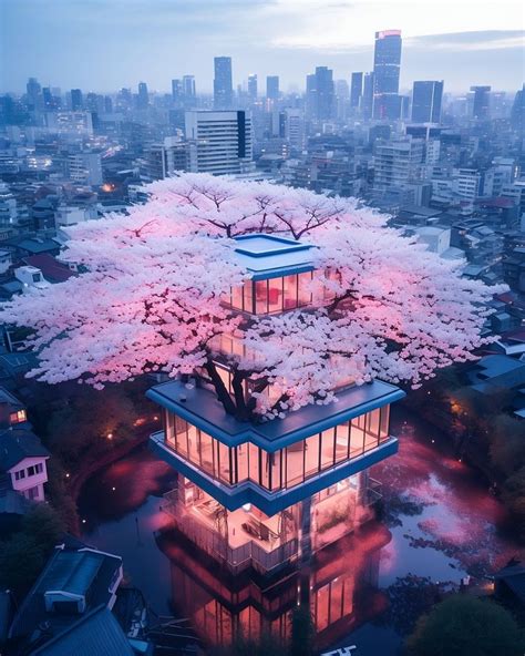
<instances>
[{"instance_id":1,"label":"glowing multi-storey glass building with blue roofs wrapped by cherry tree","mask_svg":"<svg viewBox=\"0 0 525 656\"><path fill-rule=\"evenodd\" d=\"M238 237L236 256L249 279L224 304L246 321L308 311L318 275L313 253L294 239ZM328 290L321 296L328 305ZM220 336L214 352L215 371L233 396L257 386L248 379L243 390L233 389L230 356L250 357L235 336ZM342 360L333 366L340 371L337 401L271 421L227 414L204 370L147 392L164 417L151 445L178 472L166 510L181 533L230 573L255 568L266 575L305 563L373 514L377 490L369 468L398 450L389 410L404 392L379 380L356 386ZM276 392L269 386L264 393L271 399Z\"/></svg>"}]
</instances>

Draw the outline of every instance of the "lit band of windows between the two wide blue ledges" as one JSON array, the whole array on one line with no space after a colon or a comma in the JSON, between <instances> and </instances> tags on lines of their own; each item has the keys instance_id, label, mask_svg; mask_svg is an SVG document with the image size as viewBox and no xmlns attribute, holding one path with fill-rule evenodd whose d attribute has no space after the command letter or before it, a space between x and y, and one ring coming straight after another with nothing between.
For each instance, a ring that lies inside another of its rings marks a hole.
<instances>
[{"instance_id":1,"label":"lit band of windows between the two wide blue ledges","mask_svg":"<svg viewBox=\"0 0 525 656\"><path fill-rule=\"evenodd\" d=\"M253 481L269 491L299 485L389 439L389 406L372 410L306 440L269 453L245 442L227 447L166 411L165 442L212 478L236 485Z\"/></svg>"}]
</instances>

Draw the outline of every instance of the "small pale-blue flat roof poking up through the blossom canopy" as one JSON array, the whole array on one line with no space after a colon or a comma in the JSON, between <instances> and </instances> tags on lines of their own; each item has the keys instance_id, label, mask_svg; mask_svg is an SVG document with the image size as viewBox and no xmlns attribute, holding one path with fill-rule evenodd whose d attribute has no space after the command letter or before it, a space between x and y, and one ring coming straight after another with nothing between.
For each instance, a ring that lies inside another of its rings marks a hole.
<instances>
[{"instance_id":1,"label":"small pale-blue flat roof poking up through the blossom canopy","mask_svg":"<svg viewBox=\"0 0 525 656\"><path fill-rule=\"evenodd\" d=\"M237 237L236 259L255 280L277 278L313 270L316 246L275 235L253 234Z\"/></svg>"}]
</instances>

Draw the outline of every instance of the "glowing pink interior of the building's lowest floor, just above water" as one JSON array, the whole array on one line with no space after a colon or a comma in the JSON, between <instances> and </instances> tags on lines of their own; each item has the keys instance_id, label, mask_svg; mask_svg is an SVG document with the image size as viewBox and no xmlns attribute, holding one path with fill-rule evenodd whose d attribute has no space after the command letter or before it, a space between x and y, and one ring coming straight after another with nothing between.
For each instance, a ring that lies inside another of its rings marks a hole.
<instances>
[{"instance_id":1,"label":"glowing pink interior of the building's lowest floor, just above water","mask_svg":"<svg viewBox=\"0 0 525 656\"><path fill-rule=\"evenodd\" d=\"M256 565L269 571L297 557L305 512L309 513L311 547L322 549L371 517L368 481L356 474L271 516L251 503L229 511L212 495L179 476L169 512L178 529L197 546L233 568Z\"/></svg>"}]
</instances>

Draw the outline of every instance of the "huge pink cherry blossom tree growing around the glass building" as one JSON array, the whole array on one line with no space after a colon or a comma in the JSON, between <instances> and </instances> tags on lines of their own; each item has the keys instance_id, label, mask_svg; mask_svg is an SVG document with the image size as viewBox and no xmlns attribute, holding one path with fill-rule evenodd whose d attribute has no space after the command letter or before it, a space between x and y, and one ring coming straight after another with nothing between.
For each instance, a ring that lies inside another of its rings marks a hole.
<instances>
[{"instance_id":1,"label":"huge pink cherry blossom tree growing around the glass building","mask_svg":"<svg viewBox=\"0 0 525 656\"><path fill-rule=\"evenodd\" d=\"M226 412L270 419L373 378L416 387L486 341L486 304L502 288L462 278L461 265L356 199L203 174L147 191L128 216L68 228L62 257L84 273L0 310L3 321L33 328L31 376L97 388L143 372L196 377ZM311 307L268 316L228 308L224 298L249 277L235 237L249 233L316 246Z\"/></svg>"}]
</instances>

